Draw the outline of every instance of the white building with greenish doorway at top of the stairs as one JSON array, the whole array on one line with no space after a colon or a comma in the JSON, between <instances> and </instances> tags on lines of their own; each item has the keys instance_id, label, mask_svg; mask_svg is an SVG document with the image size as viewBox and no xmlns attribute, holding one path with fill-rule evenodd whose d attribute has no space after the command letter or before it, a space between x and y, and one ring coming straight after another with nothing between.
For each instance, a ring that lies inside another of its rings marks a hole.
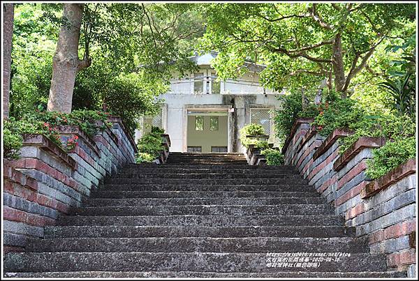
<instances>
[{"instance_id":1,"label":"white building with greenish doorway at top of the stairs","mask_svg":"<svg viewBox=\"0 0 419 281\"><path fill-rule=\"evenodd\" d=\"M159 126L170 135L170 151L241 152L240 129L259 123L274 142L273 109L279 107L278 92L259 84L263 66L247 64L240 79L217 82L211 61L216 53L193 56L200 70L189 77L172 79L171 89L162 95L160 114L142 119L142 130Z\"/></svg>"}]
</instances>

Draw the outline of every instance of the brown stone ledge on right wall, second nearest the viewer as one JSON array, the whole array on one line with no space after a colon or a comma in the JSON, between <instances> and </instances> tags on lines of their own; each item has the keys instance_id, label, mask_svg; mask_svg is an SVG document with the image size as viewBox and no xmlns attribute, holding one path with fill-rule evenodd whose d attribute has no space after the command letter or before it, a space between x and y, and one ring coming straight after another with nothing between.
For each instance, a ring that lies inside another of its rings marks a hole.
<instances>
[{"instance_id":1,"label":"brown stone ledge on right wall, second nearest the viewer","mask_svg":"<svg viewBox=\"0 0 419 281\"><path fill-rule=\"evenodd\" d=\"M352 158L355 157L362 149L367 148L378 148L385 144L385 138L383 137L360 137L354 144L349 146L346 151L337 158L333 164L333 169L339 171L348 163Z\"/></svg>"}]
</instances>

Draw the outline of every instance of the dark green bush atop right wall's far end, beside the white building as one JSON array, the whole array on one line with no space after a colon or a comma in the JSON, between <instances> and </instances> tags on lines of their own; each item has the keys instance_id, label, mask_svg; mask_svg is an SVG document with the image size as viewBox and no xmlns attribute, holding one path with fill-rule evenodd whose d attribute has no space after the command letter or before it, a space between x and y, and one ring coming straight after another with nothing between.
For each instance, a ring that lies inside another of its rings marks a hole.
<instances>
[{"instance_id":1,"label":"dark green bush atop right wall's far end, beside the white building","mask_svg":"<svg viewBox=\"0 0 419 281\"><path fill-rule=\"evenodd\" d=\"M279 139L286 139L298 118L311 118L317 116L320 112L320 109L313 102L309 103L304 110L302 109L301 91L291 91L290 94L278 96L278 98L281 100L281 109L276 111L274 121L275 132Z\"/></svg>"}]
</instances>

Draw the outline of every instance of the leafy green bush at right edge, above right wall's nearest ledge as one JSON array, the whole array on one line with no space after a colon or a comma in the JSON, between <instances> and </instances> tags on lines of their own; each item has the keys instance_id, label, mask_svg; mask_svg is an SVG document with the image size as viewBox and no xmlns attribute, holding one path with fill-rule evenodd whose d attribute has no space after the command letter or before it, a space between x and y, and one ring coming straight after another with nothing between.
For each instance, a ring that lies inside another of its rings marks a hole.
<instances>
[{"instance_id":1,"label":"leafy green bush at right edge, above right wall's nearest ledge","mask_svg":"<svg viewBox=\"0 0 419 281\"><path fill-rule=\"evenodd\" d=\"M397 137L374 149L372 154L374 158L367 161L365 174L370 179L378 179L406 160L416 158L416 137Z\"/></svg>"}]
</instances>

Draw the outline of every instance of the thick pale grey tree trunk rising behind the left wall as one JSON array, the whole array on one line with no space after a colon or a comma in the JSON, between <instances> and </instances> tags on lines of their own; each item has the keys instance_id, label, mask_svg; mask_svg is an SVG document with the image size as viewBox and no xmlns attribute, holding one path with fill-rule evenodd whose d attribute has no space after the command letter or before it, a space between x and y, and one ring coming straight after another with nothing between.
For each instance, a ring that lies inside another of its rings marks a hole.
<instances>
[{"instance_id":1,"label":"thick pale grey tree trunk rising behind the left wall","mask_svg":"<svg viewBox=\"0 0 419 281\"><path fill-rule=\"evenodd\" d=\"M82 24L84 4L64 4L63 17L67 23L59 31L57 50L52 58L52 79L48 111L71 112L75 76L78 70L90 66L87 57L83 61L78 57L80 26Z\"/></svg>"}]
</instances>

